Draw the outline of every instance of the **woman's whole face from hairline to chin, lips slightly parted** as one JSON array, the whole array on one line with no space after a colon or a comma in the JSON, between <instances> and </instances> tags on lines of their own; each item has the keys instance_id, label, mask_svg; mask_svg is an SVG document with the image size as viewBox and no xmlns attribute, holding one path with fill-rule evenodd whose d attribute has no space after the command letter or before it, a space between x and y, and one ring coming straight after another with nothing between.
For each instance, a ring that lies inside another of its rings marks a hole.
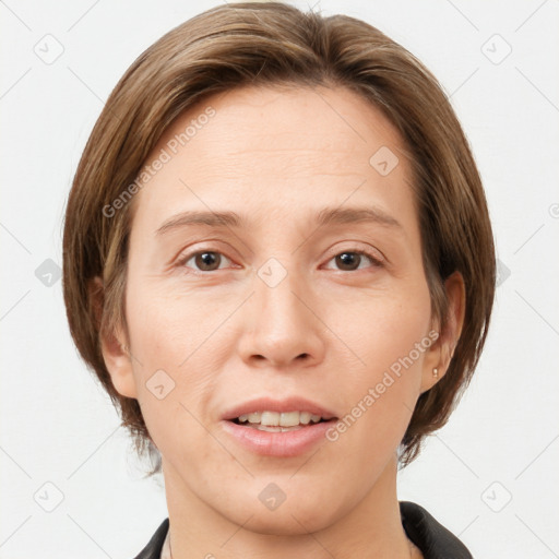
<instances>
[{"instance_id":1,"label":"woman's whole face from hairline to chin, lips slightly parted","mask_svg":"<svg viewBox=\"0 0 559 559\"><path fill-rule=\"evenodd\" d=\"M349 91L243 87L180 117L157 157L112 381L168 498L262 533L329 526L395 469L440 357L403 143Z\"/></svg>"}]
</instances>

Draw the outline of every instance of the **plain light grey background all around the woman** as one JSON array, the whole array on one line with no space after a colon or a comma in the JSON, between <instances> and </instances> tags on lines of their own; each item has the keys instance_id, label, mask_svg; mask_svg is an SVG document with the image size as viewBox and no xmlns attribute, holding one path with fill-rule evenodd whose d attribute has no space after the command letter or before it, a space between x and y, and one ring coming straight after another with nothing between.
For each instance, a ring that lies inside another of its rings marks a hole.
<instances>
[{"instance_id":1,"label":"plain light grey background all around the woman","mask_svg":"<svg viewBox=\"0 0 559 559\"><path fill-rule=\"evenodd\" d=\"M104 100L141 51L213 5L0 1L0 558L130 558L167 515L71 343L57 266L66 198ZM313 8L378 26L439 78L479 164L501 262L476 377L401 474L400 498L477 559L559 557L559 2Z\"/></svg>"}]
</instances>

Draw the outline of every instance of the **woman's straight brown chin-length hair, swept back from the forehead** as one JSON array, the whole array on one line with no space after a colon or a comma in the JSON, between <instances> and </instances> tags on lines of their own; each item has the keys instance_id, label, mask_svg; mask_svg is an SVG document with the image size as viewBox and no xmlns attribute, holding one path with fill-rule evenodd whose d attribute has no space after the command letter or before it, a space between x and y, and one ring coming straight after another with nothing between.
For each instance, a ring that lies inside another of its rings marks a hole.
<instances>
[{"instance_id":1,"label":"woman's straight brown chin-length hair, swept back from the forehead","mask_svg":"<svg viewBox=\"0 0 559 559\"><path fill-rule=\"evenodd\" d=\"M171 29L133 62L92 131L68 200L63 292L73 340L136 450L153 451L138 401L115 390L100 352L102 332L126 329L133 204L110 216L104 209L134 181L181 112L249 84L342 86L382 110L411 154L424 267L441 331L443 282L454 271L464 278L462 334L447 374L419 396L402 441L401 465L406 465L425 436L447 423L477 365L493 301L495 249L481 181L442 88L413 55L362 21L302 13L280 2L221 5ZM97 293L91 288L95 276L104 284Z\"/></svg>"}]
</instances>

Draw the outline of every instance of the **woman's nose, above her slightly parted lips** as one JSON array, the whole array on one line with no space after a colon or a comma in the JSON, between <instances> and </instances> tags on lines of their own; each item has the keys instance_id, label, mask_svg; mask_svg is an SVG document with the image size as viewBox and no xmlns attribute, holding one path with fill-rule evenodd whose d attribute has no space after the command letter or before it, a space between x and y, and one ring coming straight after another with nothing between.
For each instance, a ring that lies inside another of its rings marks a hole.
<instances>
[{"instance_id":1,"label":"woman's nose, above her slightly parted lips","mask_svg":"<svg viewBox=\"0 0 559 559\"><path fill-rule=\"evenodd\" d=\"M252 367L283 369L320 362L326 328L320 320L320 302L312 289L294 271L277 285L269 283L265 275L255 274L253 286L241 317L242 360Z\"/></svg>"}]
</instances>

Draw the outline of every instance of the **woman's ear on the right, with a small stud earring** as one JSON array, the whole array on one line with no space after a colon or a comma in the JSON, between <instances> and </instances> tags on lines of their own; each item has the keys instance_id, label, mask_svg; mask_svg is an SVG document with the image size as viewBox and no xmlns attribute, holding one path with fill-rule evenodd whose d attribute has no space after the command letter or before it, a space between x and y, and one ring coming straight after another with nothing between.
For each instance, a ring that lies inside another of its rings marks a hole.
<instances>
[{"instance_id":1,"label":"woman's ear on the right, with a small stud earring","mask_svg":"<svg viewBox=\"0 0 559 559\"><path fill-rule=\"evenodd\" d=\"M429 347L424 359L424 369L421 376L421 393L432 388L444 377L449 370L454 348L460 340L462 326L464 325L464 314L466 310L466 289L464 278L460 272L452 273L444 282L447 292L448 313L444 332L437 332L439 337ZM433 373L437 369L437 376Z\"/></svg>"}]
</instances>

